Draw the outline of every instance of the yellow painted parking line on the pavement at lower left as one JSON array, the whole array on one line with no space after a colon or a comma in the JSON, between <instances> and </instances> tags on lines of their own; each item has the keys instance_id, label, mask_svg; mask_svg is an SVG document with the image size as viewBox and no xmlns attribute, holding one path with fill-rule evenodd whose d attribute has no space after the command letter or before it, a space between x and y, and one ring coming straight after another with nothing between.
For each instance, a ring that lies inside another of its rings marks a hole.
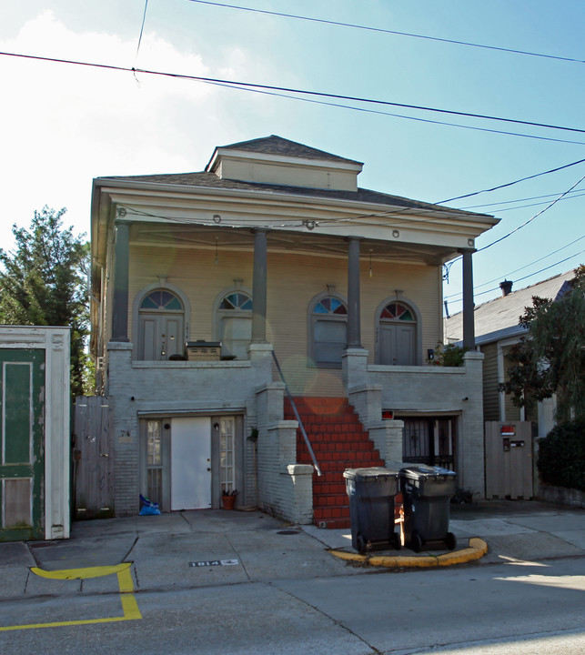
<instances>
[{"instance_id":1,"label":"yellow painted parking line on the pavement at lower left","mask_svg":"<svg viewBox=\"0 0 585 655\"><path fill-rule=\"evenodd\" d=\"M90 625L92 623L115 623L124 620L138 620L142 619L142 614L138 610L138 604L134 596L134 584L132 582L132 575L130 567L132 562L125 562L124 564L117 564L116 566L105 567L87 567L86 569L63 569L56 571L46 571L38 569L37 567L31 568L31 571L41 578L46 579L89 579L101 578L106 575L116 573L118 579L118 588L120 589L120 602L122 603L121 617L105 617L104 619L82 619L71 621L54 621L50 623L30 623L27 625L18 626L5 626L0 627L0 632L8 630L31 630L34 628L57 628L61 626L75 626L75 625Z\"/></svg>"}]
</instances>

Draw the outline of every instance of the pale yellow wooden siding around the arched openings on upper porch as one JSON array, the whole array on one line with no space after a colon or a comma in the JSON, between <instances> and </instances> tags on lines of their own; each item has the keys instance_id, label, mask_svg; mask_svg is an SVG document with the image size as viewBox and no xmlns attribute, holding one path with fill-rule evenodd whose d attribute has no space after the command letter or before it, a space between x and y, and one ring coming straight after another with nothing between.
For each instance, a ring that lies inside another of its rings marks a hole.
<instances>
[{"instance_id":1,"label":"pale yellow wooden siding around the arched openings on upper porch","mask_svg":"<svg viewBox=\"0 0 585 655\"><path fill-rule=\"evenodd\" d=\"M187 247L130 249L128 325L132 338L132 308L146 287L165 278L181 289L191 303L189 338L212 340L213 307L220 293L233 288L234 280L252 288L253 252ZM313 257L294 252L271 253L267 260L267 341L274 345L287 378L296 392L340 394L338 369L308 368L308 307L328 285L342 297L348 295L348 263L344 257ZM335 287L335 288L333 288ZM422 361L428 348L441 338L440 267L401 265L374 261L369 277L368 256L361 257L361 341L368 362L376 360L376 312L384 300L399 296L413 302L422 321Z\"/></svg>"}]
</instances>

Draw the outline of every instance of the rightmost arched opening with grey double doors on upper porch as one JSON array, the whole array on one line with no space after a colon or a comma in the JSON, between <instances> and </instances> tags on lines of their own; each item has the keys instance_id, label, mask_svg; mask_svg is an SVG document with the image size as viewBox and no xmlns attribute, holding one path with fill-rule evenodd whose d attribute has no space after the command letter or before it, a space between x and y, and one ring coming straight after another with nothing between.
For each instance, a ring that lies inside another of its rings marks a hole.
<instances>
[{"instance_id":1,"label":"rightmost arched opening with grey double doors on upper porch","mask_svg":"<svg viewBox=\"0 0 585 655\"><path fill-rule=\"evenodd\" d=\"M413 307L393 300L378 317L378 364L414 366L418 353L418 317Z\"/></svg>"}]
</instances>

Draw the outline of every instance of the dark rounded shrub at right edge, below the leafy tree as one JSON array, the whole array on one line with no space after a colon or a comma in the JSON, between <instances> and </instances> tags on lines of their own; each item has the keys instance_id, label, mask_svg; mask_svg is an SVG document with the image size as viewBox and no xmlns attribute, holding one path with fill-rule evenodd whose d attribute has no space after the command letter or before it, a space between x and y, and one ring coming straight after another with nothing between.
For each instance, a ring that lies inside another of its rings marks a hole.
<instances>
[{"instance_id":1,"label":"dark rounded shrub at right edge, below the leafy tree","mask_svg":"<svg viewBox=\"0 0 585 655\"><path fill-rule=\"evenodd\" d=\"M560 423L539 442L540 480L585 491L585 422Z\"/></svg>"}]
</instances>

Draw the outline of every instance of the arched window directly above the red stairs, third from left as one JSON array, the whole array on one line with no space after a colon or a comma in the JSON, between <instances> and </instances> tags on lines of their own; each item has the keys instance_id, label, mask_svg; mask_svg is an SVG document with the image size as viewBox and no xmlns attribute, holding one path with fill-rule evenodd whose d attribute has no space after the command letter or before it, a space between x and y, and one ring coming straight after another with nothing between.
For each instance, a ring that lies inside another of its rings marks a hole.
<instances>
[{"instance_id":1,"label":"arched window directly above the red stairs, third from left","mask_svg":"<svg viewBox=\"0 0 585 655\"><path fill-rule=\"evenodd\" d=\"M315 299L309 317L309 356L315 366L341 368L341 356L347 343L346 303L335 296Z\"/></svg>"}]
</instances>

